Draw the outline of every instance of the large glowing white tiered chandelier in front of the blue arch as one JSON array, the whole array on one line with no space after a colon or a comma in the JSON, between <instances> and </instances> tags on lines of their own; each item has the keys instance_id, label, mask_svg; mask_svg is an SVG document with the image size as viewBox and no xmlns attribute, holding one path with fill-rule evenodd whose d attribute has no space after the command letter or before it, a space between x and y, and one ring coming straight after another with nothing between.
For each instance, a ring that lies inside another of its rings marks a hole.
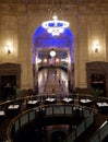
<instances>
[{"instance_id":1,"label":"large glowing white tiered chandelier in front of the blue arch","mask_svg":"<svg viewBox=\"0 0 108 142\"><path fill-rule=\"evenodd\" d=\"M52 3L53 4L53 3ZM60 1L53 5L53 8L58 7ZM50 13L53 13L50 11ZM59 13L61 13L61 9L59 9ZM64 28L69 27L70 23L68 21L58 20L56 14L51 15L52 20L45 21L41 23L41 26L47 29L52 36L59 36L64 32Z\"/></svg>"}]
</instances>

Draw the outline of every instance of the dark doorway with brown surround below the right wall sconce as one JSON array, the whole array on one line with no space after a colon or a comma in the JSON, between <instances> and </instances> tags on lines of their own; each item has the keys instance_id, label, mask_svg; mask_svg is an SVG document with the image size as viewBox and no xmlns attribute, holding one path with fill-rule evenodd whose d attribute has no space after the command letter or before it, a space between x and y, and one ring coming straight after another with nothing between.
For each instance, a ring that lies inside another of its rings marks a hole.
<instances>
[{"instance_id":1,"label":"dark doorway with brown surround below the right wall sconce","mask_svg":"<svg viewBox=\"0 0 108 142\"><path fill-rule=\"evenodd\" d=\"M87 88L99 88L101 96L108 96L108 62L93 61L86 63Z\"/></svg>"}]
</instances>

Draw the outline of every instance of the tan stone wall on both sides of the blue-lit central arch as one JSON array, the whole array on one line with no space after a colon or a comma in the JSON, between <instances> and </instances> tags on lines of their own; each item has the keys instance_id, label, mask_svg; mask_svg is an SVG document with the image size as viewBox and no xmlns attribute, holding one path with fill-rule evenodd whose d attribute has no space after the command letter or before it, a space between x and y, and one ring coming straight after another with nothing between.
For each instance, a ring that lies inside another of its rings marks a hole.
<instances>
[{"instance_id":1,"label":"tan stone wall on both sides of the blue-lit central arch","mask_svg":"<svg viewBox=\"0 0 108 142\"><path fill-rule=\"evenodd\" d=\"M64 20L70 22L75 40L74 84L77 88L87 88L86 62L108 61L108 3L62 3L62 13ZM48 13L48 7L20 1L1 2L0 8L0 63L20 63L21 87L33 87L33 35L41 22L47 20L45 13ZM5 49L8 40L13 47L10 56ZM94 45L94 40L98 40L98 45ZM94 50L96 46L99 47L98 54Z\"/></svg>"}]
</instances>

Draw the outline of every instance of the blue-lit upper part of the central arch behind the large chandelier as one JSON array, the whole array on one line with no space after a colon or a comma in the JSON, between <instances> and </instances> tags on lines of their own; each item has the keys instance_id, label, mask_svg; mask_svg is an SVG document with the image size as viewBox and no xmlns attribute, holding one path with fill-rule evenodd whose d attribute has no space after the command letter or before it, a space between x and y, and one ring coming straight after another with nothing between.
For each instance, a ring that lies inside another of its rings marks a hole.
<instances>
[{"instance_id":1,"label":"blue-lit upper part of the central arch behind the large chandelier","mask_svg":"<svg viewBox=\"0 0 108 142\"><path fill-rule=\"evenodd\" d=\"M65 28L64 32L60 34L60 36L55 37L47 33L47 29L45 29L43 26L39 26L33 35L33 46L34 51L36 51L37 48L73 48L74 38L69 28ZM35 61L34 58L35 56L33 57L33 60ZM74 59L72 59L72 61Z\"/></svg>"}]
</instances>

